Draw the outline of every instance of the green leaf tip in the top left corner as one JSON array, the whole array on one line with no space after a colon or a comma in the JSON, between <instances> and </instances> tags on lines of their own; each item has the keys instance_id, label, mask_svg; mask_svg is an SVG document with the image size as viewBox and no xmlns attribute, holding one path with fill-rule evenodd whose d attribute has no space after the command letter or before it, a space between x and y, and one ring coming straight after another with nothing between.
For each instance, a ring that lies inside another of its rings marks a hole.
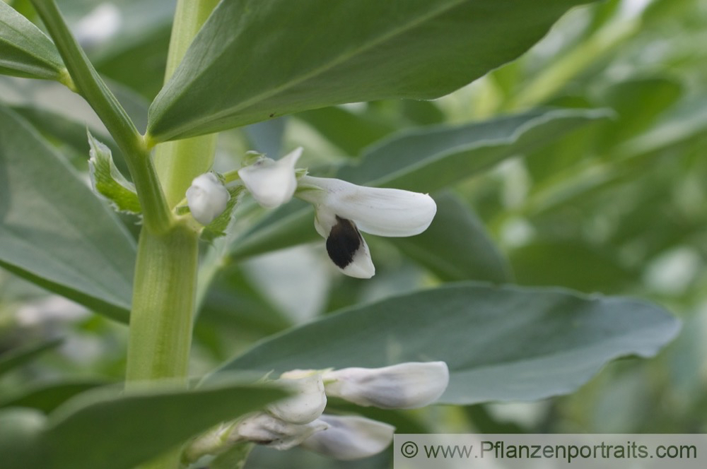
<instances>
[{"instance_id":1,"label":"green leaf tip in the top left corner","mask_svg":"<svg viewBox=\"0 0 707 469\"><path fill-rule=\"evenodd\" d=\"M60 80L66 73L49 37L4 1L0 1L0 73L47 80Z\"/></svg>"}]
</instances>

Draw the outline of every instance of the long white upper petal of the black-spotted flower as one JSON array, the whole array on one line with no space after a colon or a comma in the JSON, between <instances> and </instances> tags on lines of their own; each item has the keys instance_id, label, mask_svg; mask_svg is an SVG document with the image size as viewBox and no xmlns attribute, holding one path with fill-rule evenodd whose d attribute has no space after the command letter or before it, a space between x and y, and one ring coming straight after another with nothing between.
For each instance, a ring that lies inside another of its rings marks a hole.
<instances>
[{"instance_id":1,"label":"long white upper petal of the black-spotted flower","mask_svg":"<svg viewBox=\"0 0 707 469\"><path fill-rule=\"evenodd\" d=\"M315 204L317 212L326 208L341 218L352 220L359 230L371 235L404 237L419 235L437 213L437 205L427 194L365 187L325 177L300 178L300 198Z\"/></svg>"}]
</instances>

